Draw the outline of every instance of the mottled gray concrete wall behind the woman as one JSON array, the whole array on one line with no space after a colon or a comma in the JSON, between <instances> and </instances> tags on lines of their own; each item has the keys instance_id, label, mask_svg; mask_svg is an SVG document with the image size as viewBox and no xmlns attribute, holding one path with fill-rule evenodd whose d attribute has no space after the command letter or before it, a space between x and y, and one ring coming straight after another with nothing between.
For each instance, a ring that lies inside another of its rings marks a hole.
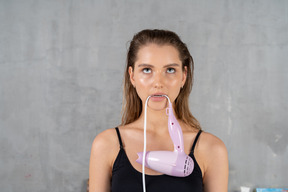
<instances>
[{"instance_id":1,"label":"mottled gray concrete wall behind the woman","mask_svg":"<svg viewBox=\"0 0 288 192\"><path fill-rule=\"evenodd\" d=\"M191 109L220 137L229 191L287 187L288 1L0 0L1 191L85 191L90 147L120 123L127 42L177 32Z\"/></svg>"}]
</instances>

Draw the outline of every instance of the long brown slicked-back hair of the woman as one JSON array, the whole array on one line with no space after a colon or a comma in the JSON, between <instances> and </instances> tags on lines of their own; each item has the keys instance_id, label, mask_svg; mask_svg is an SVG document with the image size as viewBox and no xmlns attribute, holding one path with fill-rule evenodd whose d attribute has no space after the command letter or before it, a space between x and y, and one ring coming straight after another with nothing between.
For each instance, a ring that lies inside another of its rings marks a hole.
<instances>
[{"instance_id":1,"label":"long brown slicked-back hair of the woman","mask_svg":"<svg viewBox=\"0 0 288 192\"><path fill-rule=\"evenodd\" d=\"M141 47L154 43L157 45L172 45L179 52L180 60L182 61L182 70L187 68L186 82L181 89L178 97L175 100L175 113L176 117L186 124L196 129L201 129L197 119L191 114L189 110L189 95L192 91L193 85L193 71L194 62L189 53L189 50L185 43L181 41L179 36L167 30L143 30L134 35L130 42L130 47L127 53L126 71L124 76L124 101L122 108L122 125L132 123L137 120L142 112L142 101L137 95L136 89L133 87L130 76L129 67L134 69L134 64L137 59L137 53Z\"/></svg>"}]
</instances>

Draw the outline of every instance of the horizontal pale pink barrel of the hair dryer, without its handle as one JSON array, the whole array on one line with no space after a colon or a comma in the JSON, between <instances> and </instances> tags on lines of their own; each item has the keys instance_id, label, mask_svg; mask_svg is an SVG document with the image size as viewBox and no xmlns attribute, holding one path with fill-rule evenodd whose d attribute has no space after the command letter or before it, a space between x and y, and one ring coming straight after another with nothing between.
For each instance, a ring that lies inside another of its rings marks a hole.
<instances>
[{"instance_id":1,"label":"horizontal pale pink barrel of the hair dryer, without its handle","mask_svg":"<svg viewBox=\"0 0 288 192\"><path fill-rule=\"evenodd\" d=\"M142 164L143 152L137 154L136 162ZM192 173L194 162L190 156L177 151L148 151L145 166L166 175L186 177Z\"/></svg>"}]
</instances>

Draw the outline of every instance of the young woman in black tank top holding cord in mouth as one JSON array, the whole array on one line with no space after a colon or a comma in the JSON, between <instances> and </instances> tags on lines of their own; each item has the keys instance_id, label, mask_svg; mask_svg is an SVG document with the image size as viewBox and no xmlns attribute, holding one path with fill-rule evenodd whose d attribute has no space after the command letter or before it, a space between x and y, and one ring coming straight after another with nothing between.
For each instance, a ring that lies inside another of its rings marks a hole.
<instances>
[{"instance_id":1,"label":"young woman in black tank top holding cord in mouth","mask_svg":"<svg viewBox=\"0 0 288 192\"><path fill-rule=\"evenodd\" d=\"M98 134L92 144L90 192L142 191L144 105L147 107L147 151L173 151L166 115L167 95L183 131L185 153L194 160L187 177L173 177L145 169L147 192L227 192L228 155L224 143L202 132L188 99L193 83L193 59L177 34L143 30L127 54L122 124Z\"/></svg>"}]
</instances>

